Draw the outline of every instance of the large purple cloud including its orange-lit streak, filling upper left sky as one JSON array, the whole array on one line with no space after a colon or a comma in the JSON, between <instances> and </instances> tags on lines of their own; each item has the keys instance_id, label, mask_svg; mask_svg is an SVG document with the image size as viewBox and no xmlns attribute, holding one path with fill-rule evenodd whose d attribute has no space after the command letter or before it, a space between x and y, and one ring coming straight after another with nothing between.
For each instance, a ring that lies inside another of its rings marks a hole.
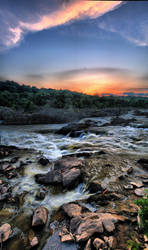
<instances>
[{"instance_id":1,"label":"large purple cloud including its orange-lit streak, filling upper left sky","mask_svg":"<svg viewBox=\"0 0 148 250\"><path fill-rule=\"evenodd\" d=\"M27 1L28 3L30 1ZM122 1L60 1L61 4L57 4L56 8L49 4L47 8L40 4L40 9L35 12L24 14L24 10L20 10L20 14L17 11L13 11L5 8L1 8L0 17L2 20L1 29L2 35L0 38L0 49L10 48L19 44L23 37L28 32L37 32L44 29L49 29L55 26L66 24L73 20L79 20L83 18L96 18L104 13L119 6ZM41 2L40 2L41 3ZM28 7L30 3L28 4ZM3 6L2 6L3 7ZM29 9L29 8L28 8ZM21 15L21 13L23 13Z\"/></svg>"}]
</instances>

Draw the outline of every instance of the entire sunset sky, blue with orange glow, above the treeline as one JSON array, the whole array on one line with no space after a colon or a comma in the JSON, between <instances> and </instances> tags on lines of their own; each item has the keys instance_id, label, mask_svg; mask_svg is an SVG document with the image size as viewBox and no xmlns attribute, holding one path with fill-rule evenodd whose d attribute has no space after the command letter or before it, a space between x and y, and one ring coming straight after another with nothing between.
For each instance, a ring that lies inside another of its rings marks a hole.
<instances>
[{"instance_id":1,"label":"entire sunset sky, blue with orange glow, above the treeline","mask_svg":"<svg viewBox=\"0 0 148 250\"><path fill-rule=\"evenodd\" d=\"M148 96L148 1L0 0L0 80Z\"/></svg>"}]
</instances>

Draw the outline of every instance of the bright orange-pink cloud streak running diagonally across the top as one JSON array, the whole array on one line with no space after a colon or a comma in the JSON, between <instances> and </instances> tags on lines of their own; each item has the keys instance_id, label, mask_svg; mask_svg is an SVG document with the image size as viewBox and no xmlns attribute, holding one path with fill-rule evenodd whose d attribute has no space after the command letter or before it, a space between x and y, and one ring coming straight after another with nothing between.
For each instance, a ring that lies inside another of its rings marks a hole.
<instances>
[{"instance_id":1,"label":"bright orange-pink cloud streak running diagonally across the top","mask_svg":"<svg viewBox=\"0 0 148 250\"><path fill-rule=\"evenodd\" d=\"M41 31L54 26L68 23L85 17L96 18L118 6L122 1L79 1L73 0L49 15L40 16L34 23L20 21L18 26L10 28L12 33L9 45L17 44L21 40L22 33L29 31Z\"/></svg>"}]
</instances>

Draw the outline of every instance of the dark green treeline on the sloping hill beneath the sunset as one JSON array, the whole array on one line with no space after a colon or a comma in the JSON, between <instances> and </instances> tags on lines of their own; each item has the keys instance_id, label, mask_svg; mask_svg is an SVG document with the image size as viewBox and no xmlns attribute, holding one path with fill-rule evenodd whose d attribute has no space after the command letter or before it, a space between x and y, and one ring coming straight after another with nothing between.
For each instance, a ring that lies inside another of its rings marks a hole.
<instances>
[{"instance_id":1,"label":"dark green treeline on the sloping hill beneath the sunset","mask_svg":"<svg viewBox=\"0 0 148 250\"><path fill-rule=\"evenodd\" d=\"M144 97L98 97L69 90L38 89L19 85L13 81L0 81L0 106L15 110L31 111L45 106L58 109L106 108L106 107L148 107Z\"/></svg>"}]
</instances>

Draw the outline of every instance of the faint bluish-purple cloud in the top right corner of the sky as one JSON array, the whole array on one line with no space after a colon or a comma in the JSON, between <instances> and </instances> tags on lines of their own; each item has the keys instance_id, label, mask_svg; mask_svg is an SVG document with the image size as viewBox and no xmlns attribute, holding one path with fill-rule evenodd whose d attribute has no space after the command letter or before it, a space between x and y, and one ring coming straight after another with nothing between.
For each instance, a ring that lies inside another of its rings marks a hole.
<instances>
[{"instance_id":1,"label":"faint bluish-purple cloud in the top right corner of the sky","mask_svg":"<svg viewBox=\"0 0 148 250\"><path fill-rule=\"evenodd\" d=\"M98 26L104 30L118 33L138 46L148 46L147 13L147 1L127 1L118 10L99 18Z\"/></svg>"}]
</instances>

